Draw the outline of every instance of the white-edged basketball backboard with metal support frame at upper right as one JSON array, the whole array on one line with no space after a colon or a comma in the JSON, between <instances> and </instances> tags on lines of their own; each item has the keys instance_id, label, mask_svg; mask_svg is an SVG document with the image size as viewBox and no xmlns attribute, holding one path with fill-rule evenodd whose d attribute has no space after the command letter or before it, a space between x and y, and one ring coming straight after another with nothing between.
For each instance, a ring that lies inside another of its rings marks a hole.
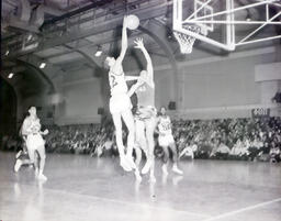
<instances>
[{"instance_id":1,"label":"white-edged basketball backboard with metal support frame at upper right","mask_svg":"<svg viewBox=\"0 0 281 221\"><path fill-rule=\"evenodd\" d=\"M190 38L195 38L226 51L234 51L239 45L280 38L281 35L277 32L257 37L257 33L262 32L266 26L281 25L280 1L247 2L241 4L239 0L173 0L175 36L180 45L193 44L194 41ZM201 31L190 29L192 25L200 26ZM243 35L237 35L237 30L241 29ZM186 53L190 52L191 49Z\"/></svg>"}]
</instances>

